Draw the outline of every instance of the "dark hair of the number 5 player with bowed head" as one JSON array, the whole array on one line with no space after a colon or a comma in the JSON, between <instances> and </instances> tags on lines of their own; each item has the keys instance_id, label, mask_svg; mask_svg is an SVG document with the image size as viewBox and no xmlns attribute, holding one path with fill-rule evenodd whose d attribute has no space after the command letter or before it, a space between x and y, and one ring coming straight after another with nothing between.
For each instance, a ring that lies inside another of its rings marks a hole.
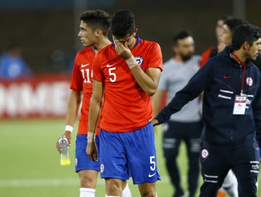
<instances>
[{"instance_id":1,"label":"dark hair of the number 5 player with bowed head","mask_svg":"<svg viewBox=\"0 0 261 197\"><path fill-rule=\"evenodd\" d=\"M116 37L125 37L135 31L135 18L128 10L119 10L112 15L111 32Z\"/></svg>"}]
</instances>

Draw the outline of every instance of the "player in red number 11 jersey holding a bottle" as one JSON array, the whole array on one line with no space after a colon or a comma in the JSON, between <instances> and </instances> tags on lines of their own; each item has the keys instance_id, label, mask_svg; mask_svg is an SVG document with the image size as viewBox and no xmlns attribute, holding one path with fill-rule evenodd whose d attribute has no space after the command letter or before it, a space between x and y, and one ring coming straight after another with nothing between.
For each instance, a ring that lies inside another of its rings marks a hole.
<instances>
[{"instance_id":1,"label":"player in red number 11 jersey holding a bottle","mask_svg":"<svg viewBox=\"0 0 261 197\"><path fill-rule=\"evenodd\" d=\"M78 37L80 37L85 49L79 51L75 57L70 86L71 96L68 100L66 131L64 133L70 143L73 125L75 124L80 103L83 101L75 150L75 171L78 172L80 178L80 197L95 196L99 163L90 160L86 154L87 120L92 96L92 61L97 51L111 44L107 37L110 23L109 14L104 11L85 11L80 15ZM97 128L97 144L99 144L99 125ZM56 146L59 150L58 143ZM128 188L127 190L127 193L130 193Z\"/></svg>"}]
</instances>

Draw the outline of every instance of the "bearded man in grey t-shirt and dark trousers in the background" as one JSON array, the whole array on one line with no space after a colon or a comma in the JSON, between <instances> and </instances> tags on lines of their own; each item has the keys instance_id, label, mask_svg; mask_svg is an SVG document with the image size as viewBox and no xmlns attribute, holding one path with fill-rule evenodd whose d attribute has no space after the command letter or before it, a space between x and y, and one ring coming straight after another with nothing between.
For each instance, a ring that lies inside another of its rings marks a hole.
<instances>
[{"instance_id":1,"label":"bearded man in grey t-shirt and dark trousers in the background","mask_svg":"<svg viewBox=\"0 0 261 197\"><path fill-rule=\"evenodd\" d=\"M157 114L164 91L167 93L167 101L171 101L176 92L182 89L199 69L200 56L194 56L193 37L188 32L182 31L174 36L173 42L175 56L164 63L164 71L159 81L158 91L152 98L154 114ZM201 132L200 97L195 98L181 111L172 115L171 119L164 125L162 144L166 158L166 169L175 188L175 197L184 196L176 163L181 141L186 144L189 159L189 196L195 196L198 186Z\"/></svg>"}]
</instances>

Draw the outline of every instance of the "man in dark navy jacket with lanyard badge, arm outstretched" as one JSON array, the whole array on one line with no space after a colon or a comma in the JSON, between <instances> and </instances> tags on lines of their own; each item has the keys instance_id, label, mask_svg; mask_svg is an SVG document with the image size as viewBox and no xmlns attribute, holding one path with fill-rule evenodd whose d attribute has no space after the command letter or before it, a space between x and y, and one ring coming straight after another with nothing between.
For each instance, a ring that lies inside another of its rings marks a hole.
<instances>
[{"instance_id":1,"label":"man in dark navy jacket with lanyard badge, arm outstretched","mask_svg":"<svg viewBox=\"0 0 261 197\"><path fill-rule=\"evenodd\" d=\"M256 60L259 51L260 28L238 25L233 31L232 46L207 61L153 120L154 125L162 124L204 91L202 197L217 196L230 169L236 174L239 196L257 195L256 139L261 144L261 78L251 61Z\"/></svg>"}]
</instances>

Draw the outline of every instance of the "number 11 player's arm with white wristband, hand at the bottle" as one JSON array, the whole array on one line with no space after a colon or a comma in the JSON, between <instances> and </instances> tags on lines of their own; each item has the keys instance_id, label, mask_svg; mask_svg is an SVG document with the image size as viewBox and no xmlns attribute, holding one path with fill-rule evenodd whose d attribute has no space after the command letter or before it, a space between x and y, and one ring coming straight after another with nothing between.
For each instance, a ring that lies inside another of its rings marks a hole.
<instances>
[{"instance_id":1,"label":"number 11 player's arm with white wristband, hand at the bottle","mask_svg":"<svg viewBox=\"0 0 261 197\"><path fill-rule=\"evenodd\" d=\"M66 115L66 130L64 135L71 144L71 133L73 130L73 125L75 124L76 117L78 115L78 110L80 108L80 102L82 101L82 91L71 90L70 97L68 99L67 115ZM56 148L59 151L58 141L56 142Z\"/></svg>"}]
</instances>

